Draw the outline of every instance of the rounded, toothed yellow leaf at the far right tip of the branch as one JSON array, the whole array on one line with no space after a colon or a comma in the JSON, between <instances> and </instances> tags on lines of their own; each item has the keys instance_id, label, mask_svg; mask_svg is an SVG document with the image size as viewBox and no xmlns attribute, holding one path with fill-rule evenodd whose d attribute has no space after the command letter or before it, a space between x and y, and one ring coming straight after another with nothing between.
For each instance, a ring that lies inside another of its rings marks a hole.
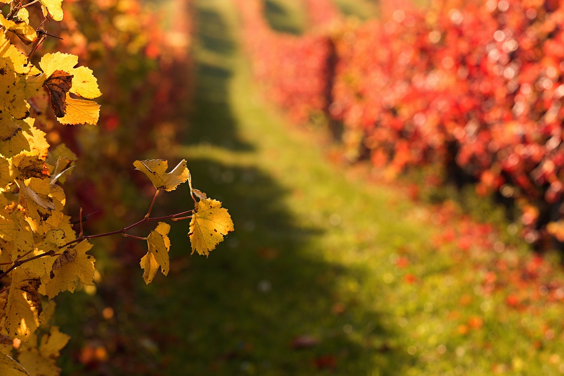
<instances>
[{"instance_id":1,"label":"rounded, toothed yellow leaf at the far right tip of the branch","mask_svg":"<svg viewBox=\"0 0 564 376\"><path fill-rule=\"evenodd\" d=\"M190 243L192 253L209 255L209 252L223 241L224 235L234 231L233 221L221 202L212 199L200 200L192 214L190 222ZM192 254L191 253L191 254Z\"/></svg>"}]
</instances>

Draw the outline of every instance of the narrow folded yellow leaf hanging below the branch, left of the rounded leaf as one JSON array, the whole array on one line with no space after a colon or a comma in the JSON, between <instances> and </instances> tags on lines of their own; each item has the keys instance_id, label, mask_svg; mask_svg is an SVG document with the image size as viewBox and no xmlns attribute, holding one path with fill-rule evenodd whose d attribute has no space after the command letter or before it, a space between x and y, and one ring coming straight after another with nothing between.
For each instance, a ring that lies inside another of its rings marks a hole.
<instances>
[{"instance_id":1,"label":"narrow folded yellow leaf hanging below the branch, left of the rounded leaf","mask_svg":"<svg viewBox=\"0 0 564 376\"><path fill-rule=\"evenodd\" d=\"M157 228L151 231L151 234L147 237L149 251L141 259L141 268L145 270L143 279L147 285L155 278L159 266L162 274L165 276L169 274L169 231L170 225L165 222L158 222Z\"/></svg>"}]
</instances>

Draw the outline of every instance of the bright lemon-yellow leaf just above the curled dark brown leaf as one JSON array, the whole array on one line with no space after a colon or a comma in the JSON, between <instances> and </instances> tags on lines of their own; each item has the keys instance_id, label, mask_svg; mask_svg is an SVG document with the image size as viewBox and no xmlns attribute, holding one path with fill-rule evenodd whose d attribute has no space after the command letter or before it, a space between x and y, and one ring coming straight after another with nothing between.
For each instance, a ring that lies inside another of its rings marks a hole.
<instances>
[{"instance_id":1,"label":"bright lemon-yellow leaf just above the curled dark brown leaf","mask_svg":"<svg viewBox=\"0 0 564 376\"><path fill-rule=\"evenodd\" d=\"M51 77L55 71L67 72L73 76L70 93L89 99L100 97L102 92L98 88L98 80L92 74L91 69L74 68L76 64L78 64L78 56L61 53L45 54L39 62L39 66L47 77Z\"/></svg>"}]
</instances>

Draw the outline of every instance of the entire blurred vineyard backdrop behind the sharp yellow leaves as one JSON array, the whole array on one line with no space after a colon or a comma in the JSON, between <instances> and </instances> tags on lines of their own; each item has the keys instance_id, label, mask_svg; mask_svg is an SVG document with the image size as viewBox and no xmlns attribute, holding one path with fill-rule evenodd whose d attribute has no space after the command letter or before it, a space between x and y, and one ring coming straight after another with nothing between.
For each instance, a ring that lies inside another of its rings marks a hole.
<instances>
[{"instance_id":1,"label":"entire blurred vineyard backdrop behind the sharp yellow leaves","mask_svg":"<svg viewBox=\"0 0 564 376\"><path fill-rule=\"evenodd\" d=\"M562 2L63 7L37 55L104 93L98 126L36 120L78 155L68 214L133 224L133 161L187 159L235 224L206 259L173 222L148 286L143 241L96 239L96 287L55 299L63 374L564 373Z\"/></svg>"}]
</instances>

